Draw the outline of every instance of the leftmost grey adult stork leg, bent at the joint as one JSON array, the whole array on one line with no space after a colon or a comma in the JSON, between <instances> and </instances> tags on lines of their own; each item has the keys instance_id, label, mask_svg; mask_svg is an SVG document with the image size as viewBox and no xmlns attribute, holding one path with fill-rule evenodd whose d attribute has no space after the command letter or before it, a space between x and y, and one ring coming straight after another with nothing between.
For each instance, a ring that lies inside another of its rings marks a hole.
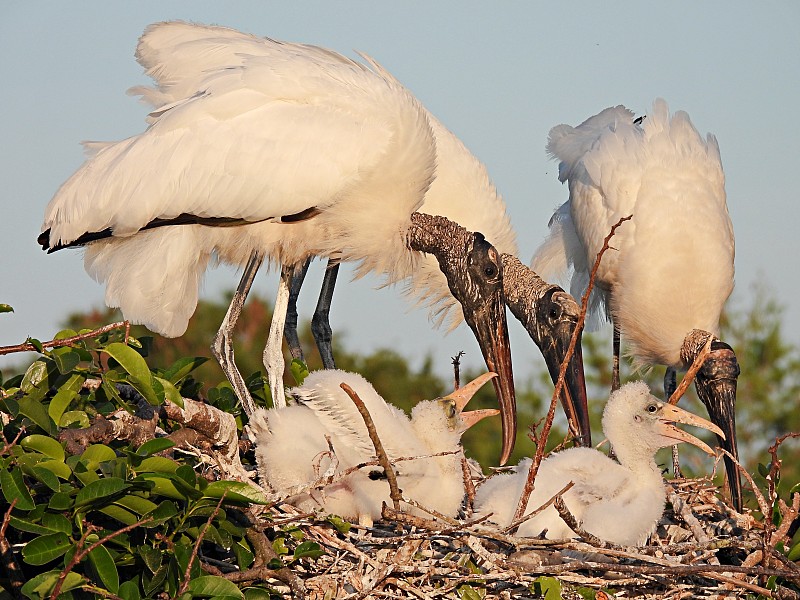
<instances>
[{"instance_id":1,"label":"leftmost grey adult stork leg, bent at the joint","mask_svg":"<svg viewBox=\"0 0 800 600\"><path fill-rule=\"evenodd\" d=\"M255 412L256 405L247 390L244 377L242 377L239 369L236 368L233 356L233 328L236 326L239 315L242 314L244 301L247 299L247 294L250 292L250 287L253 285L253 280L263 260L264 257L257 252L253 252L250 255L244 268L244 273L242 273L239 287L236 288L236 292L233 294L231 304L228 306L228 312L225 313L225 318L222 320L217 335L214 336L214 341L211 344L211 353L217 359L219 366L222 367L225 377L231 382L233 391L236 392L236 396L239 398L239 402L242 403L244 412L248 417Z\"/></svg>"}]
</instances>

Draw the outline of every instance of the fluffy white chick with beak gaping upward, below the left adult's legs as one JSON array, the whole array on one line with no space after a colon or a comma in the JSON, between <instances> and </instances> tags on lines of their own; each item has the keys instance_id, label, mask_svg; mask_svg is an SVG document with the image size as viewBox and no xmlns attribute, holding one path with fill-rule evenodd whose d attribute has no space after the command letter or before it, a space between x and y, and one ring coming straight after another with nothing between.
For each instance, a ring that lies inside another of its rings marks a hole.
<instances>
[{"instance_id":1,"label":"fluffy white chick with beak gaping upward, below the left adult's legs","mask_svg":"<svg viewBox=\"0 0 800 600\"><path fill-rule=\"evenodd\" d=\"M289 496L288 502L303 510L321 509L366 524L380 518L381 504L389 502L389 485L380 467L342 476L375 456L361 415L340 387L346 383L369 410L403 497L456 516L464 497L458 452L461 435L484 417L498 413L463 412L464 407L493 377L494 373L487 373L444 398L423 400L409 419L384 401L361 375L335 369L314 371L302 386L289 391L295 405L257 409L250 420L262 484L279 496ZM326 436L335 456L330 453ZM443 452L451 454L431 456ZM415 457L423 458L398 460ZM308 489L323 474L334 481Z\"/></svg>"}]
</instances>

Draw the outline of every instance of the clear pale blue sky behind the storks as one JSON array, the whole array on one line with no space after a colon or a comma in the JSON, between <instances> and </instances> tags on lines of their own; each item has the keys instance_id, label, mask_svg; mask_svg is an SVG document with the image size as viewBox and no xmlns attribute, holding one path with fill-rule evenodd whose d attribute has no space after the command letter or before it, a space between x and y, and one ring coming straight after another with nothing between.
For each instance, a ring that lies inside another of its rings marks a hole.
<instances>
[{"instance_id":1,"label":"clear pale blue sky behind the storks","mask_svg":"<svg viewBox=\"0 0 800 600\"><path fill-rule=\"evenodd\" d=\"M766 282L787 306L786 337L800 342L800 3L4 0L0 302L16 312L0 315L0 345L50 339L68 312L102 305L80 252L47 256L36 236L48 201L83 162L79 142L144 128L146 108L125 94L149 83L133 51L146 25L170 19L376 58L486 163L523 262L567 196L544 151L549 129L616 104L643 113L664 97L719 140L736 232L734 301ZM462 349L468 364L481 364L466 326L445 336L398 290L373 289L377 277L348 284L349 273L340 275L332 324L351 348L432 353L443 374ZM238 278L210 272L203 296L219 298ZM306 317L320 278L318 267L301 298ZM257 289L272 298L276 280L261 273ZM512 321L520 379L539 358Z\"/></svg>"}]
</instances>

